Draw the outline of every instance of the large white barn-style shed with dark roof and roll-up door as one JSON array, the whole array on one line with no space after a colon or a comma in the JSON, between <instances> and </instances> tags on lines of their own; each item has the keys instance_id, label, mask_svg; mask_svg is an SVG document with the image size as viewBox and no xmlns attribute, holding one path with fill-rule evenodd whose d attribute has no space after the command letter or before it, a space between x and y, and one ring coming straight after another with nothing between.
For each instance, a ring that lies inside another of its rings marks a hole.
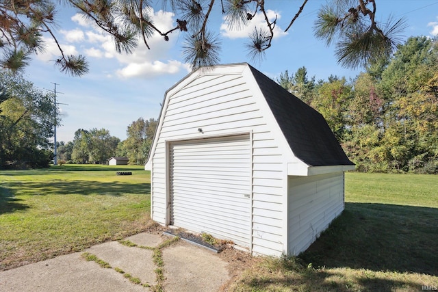
<instances>
[{"instance_id":1,"label":"large white barn-style shed with dark roof and roll-up door","mask_svg":"<svg viewBox=\"0 0 438 292\"><path fill-rule=\"evenodd\" d=\"M321 114L248 64L170 88L145 165L153 220L274 256L306 250L342 213L354 168Z\"/></svg>"}]
</instances>

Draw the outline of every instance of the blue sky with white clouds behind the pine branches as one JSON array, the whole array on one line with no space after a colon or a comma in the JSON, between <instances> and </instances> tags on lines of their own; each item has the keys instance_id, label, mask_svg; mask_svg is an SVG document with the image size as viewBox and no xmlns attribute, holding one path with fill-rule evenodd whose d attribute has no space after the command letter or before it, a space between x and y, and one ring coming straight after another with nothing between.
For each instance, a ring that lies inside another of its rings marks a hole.
<instances>
[{"instance_id":1,"label":"blue sky with white clouds behind the pine branches","mask_svg":"<svg viewBox=\"0 0 438 292\"><path fill-rule=\"evenodd\" d=\"M220 5L220 1L217 1ZM287 33L284 29L294 17L301 0L270 0L266 8L277 16L276 38L261 62L246 55L246 31L230 31L224 24L219 7L209 21L209 28L221 37L220 63L248 62L276 80L284 72L295 72L305 66L309 76L326 79L329 75L354 78L359 70L342 68L336 62L333 47L326 47L313 36L312 26L320 5L326 1L309 0L305 10ZM376 0L378 20L387 16L403 17L407 23L404 39L409 36L438 35L438 1ZM154 10L155 23L174 27L176 17ZM62 8L56 35L66 53L86 55L90 72L83 77L70 77L54 65L57 49L48 39L46 51L37 55L27 68L25 77L41 89L53 90L57 83L57 101L62 125L57 127L57 141L72 141L77 129L105 128L110 134L126 139L127 126L142 117L158 118L160 103L168 88L190 72L181 55L182 33L174 32L170 41L162 37L150 40L151 50L140 46L131 55L119 55L111 39L83 21L75 11ZM255 18L248 29L259 21Z\"/></svg>"}]
</instances>

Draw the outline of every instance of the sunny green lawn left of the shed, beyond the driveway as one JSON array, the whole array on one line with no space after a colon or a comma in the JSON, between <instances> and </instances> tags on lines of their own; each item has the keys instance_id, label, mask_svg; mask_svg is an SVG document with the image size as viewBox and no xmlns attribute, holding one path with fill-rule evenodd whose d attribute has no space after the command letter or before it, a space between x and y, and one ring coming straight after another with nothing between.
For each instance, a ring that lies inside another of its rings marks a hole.
<instances>
[{"instance_id":1,"label":"sunny green lawn left of the shed, beyond the driveway","mask_svg":"<svg viewBox=\"0 0 438 292\"><path fill-rule=\"evenodd\" d=\"M139 233L149 222L149 194L141 165L0 170L0 269Z\"/></svg>"}]
</instances>

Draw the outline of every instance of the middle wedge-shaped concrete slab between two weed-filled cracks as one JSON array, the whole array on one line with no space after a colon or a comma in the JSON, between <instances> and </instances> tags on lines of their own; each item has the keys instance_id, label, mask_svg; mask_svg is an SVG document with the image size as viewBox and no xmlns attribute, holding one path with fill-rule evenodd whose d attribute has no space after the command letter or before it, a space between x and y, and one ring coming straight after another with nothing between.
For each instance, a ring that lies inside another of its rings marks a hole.
<instances>
[{"instance_id":1,"label":"middle wedge-shaped concrete slab between two weed-filled cracks","mask_svg":"<svg viewBox=\"0 0 438 292\"><path fill-rule=\"evenodd\" d=\"M156 284L156 269L151 250L129 248L117 241L94 245L86 252L96 255L101 260L110 263L111 267L123 269L131 276L139 278L143 284Z\"/></svg>"}]
</instances>

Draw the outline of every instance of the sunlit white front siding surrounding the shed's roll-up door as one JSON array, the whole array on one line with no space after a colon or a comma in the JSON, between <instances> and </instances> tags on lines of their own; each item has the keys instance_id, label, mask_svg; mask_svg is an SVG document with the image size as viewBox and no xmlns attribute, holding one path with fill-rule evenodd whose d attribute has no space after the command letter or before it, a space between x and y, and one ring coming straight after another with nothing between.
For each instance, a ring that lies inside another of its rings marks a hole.
<instances>
[{"instance_id":1,"label":"sunlit white front siding surrounding the shed's roll-up door","mask_svg":"<svg viewBox=\"0 0 438 292\"><path fill-rule=\"evenodd\" d=\"M169 183L166 143L251 133L251 248L255 253L279 255L285 244L282 202L286 189L281 181L285 157L279 149L278 136L272 133L272 129L279 131L278 126L268 124L269 119L264 116L267 109L263 108L266 103L257 103L261 96L254 96L257 92L251 88L254 83L247 81L241 73L204 75L185 79L168 92L153 152L152 216L162 224L170 223L170 212L166 209ZM233 172L231 165L229 171Z\"/></svg>"}]
</instances>

